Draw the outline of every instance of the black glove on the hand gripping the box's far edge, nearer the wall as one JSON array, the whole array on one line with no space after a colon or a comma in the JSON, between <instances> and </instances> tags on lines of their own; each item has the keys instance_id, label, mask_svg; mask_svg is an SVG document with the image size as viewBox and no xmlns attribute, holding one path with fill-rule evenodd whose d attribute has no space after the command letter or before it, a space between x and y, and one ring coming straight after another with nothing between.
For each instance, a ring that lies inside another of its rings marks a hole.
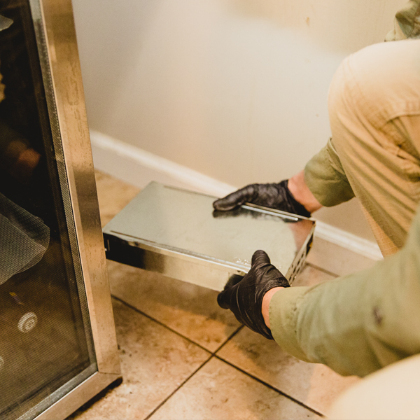
<instances>
[{"instance_id":1,"label":"black glove on the hand gripping the box's far edge, nearer the wall","mask_svg":"<svg viewBox=\"0 0 420 420\"><path fill-rule=\"evenodd\" d=\"M216 200L213 203L213 207L218 211L228 211L244 203L252 203L310 217L309 211L297 202L292 193L290 193L287 184L288 179L281 181L281 183L251 184L227 195L225 198Z\"/></svg>"}]
</instances>

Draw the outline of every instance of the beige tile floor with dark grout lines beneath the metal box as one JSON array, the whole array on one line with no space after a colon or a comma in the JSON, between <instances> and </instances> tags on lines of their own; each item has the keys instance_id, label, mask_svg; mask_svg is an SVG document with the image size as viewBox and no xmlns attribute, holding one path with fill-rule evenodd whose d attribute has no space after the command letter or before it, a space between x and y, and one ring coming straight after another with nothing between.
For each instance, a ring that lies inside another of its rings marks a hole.
<instances>
[{"instance_id":1,"label":"beige tile floor with dark grout lines beneath the metal box","mask_svg":"<svg viewBox=\"0 0 420 420\"><path fill-rule=\"evenodd\" d=\"M97 187L102 225L138 193L101 172ZM317 267L323 245L315 241L296 284L355 269L337 249L333 265ZM214 290L113 261L108 267L124 381L69 419L319 419L358 380L297 360L243 328L218 307Z\"/></svg>"}]
</instances>

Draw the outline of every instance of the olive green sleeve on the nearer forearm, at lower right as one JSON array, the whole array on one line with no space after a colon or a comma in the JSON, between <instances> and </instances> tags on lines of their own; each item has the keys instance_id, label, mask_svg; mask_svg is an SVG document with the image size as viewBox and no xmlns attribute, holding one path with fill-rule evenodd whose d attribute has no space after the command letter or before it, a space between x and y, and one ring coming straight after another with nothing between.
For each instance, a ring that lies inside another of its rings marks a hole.
<instances>
[{"instance_id":1,"label":"olive green sleeve on the nearer forearm, at lower right","mask_svg":"<svg viewBox=\"0 0 420 420\"><path fill-rule=\"evenodd\" d=\"M401 251L363 272L274 294L274 339L293 356L365 376L420 353L420 214Z\"/></svg>"}]
</instances>

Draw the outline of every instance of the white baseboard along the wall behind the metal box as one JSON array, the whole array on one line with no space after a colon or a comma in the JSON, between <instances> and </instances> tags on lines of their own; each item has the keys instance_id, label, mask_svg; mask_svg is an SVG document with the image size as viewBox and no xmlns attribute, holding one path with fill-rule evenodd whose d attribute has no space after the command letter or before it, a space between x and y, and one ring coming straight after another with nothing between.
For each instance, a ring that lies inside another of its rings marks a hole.
<instances>
[{"instance_id":1,"label":"white baseboard along the wall behind the metal box","mask_svg":"<svg viewBox=\"0 0 420 420\"><path fill-rule=\"evenodd\" d=\"M200 174L171 160L146 152L123 141L91 130L94 167L122 181L144 188L151 181L158 181L179 188L223 197L236 190L234 186ZM377 244L352 235L321 221L316 222L315 236L346 248L371 260L381 260Z\"/></svg>"}]
</instances>

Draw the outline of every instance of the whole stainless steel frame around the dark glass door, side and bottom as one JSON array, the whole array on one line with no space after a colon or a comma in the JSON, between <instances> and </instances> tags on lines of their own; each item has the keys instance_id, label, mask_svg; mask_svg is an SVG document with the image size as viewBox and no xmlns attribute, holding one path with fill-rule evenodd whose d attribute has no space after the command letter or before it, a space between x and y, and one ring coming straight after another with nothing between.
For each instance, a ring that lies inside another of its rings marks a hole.
<instances>
[{"instance_id":1,"label":"whole stainless steel frame around the dark glass door, side and bottom","mask_svg":"<svg viewBox=\"0 0 420 420\"><path fill-rule=\"evenodd\" d=\"M121 378L116 330L97 189L85 111L85 97L78 59L71 0L29 0L54 144L62 147L61 165L68 183L81 272L97 371L57 400L66 384L50 395L52 405L37 420L65 419L106 386ZM56 400L56 401L55 401ZM41 406L40 406L41 405ZM20 419L32 418L29 412Z\"/></svg>"}]
</instances>

